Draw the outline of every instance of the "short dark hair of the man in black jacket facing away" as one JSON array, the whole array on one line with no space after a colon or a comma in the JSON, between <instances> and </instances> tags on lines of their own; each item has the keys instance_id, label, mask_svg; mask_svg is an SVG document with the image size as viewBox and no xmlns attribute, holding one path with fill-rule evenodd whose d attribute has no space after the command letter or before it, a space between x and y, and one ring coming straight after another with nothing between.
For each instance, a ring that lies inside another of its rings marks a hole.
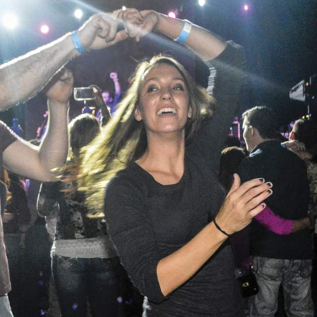
<instances>
[{"instance_id":1,"label":"short dark hair of the man in black jacket facing away","mask_svg":"<svg viewBox=\"0 0 317 317\"><path fill-rule=\"evenodd\" d=\"M255 127L262 138L276 138L277 117L270 108L256 106L244 112L242 117L247 118L249 125Z\"/></svg>"}]
</instances>

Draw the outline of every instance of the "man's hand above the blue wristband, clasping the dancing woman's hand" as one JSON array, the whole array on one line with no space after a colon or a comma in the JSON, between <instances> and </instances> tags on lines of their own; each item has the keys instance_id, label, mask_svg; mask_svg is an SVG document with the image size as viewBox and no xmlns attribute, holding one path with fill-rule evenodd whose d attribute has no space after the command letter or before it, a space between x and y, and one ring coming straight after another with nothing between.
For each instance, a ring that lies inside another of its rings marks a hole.
<instances>
[{"instance_id":1,"label":"man's hand above the blue wristband, clasping the dancing woman's hand","mask_svg":"<svg viewBox=\"0 0 317 317\"><path fill-rule=\"evenodd\" d=\"M128 38L125 30L117 32L121 10L98 13L90 17L79 29L78 37L87 50L99 50L112 46Z\"/></svg>"}]
</instances>

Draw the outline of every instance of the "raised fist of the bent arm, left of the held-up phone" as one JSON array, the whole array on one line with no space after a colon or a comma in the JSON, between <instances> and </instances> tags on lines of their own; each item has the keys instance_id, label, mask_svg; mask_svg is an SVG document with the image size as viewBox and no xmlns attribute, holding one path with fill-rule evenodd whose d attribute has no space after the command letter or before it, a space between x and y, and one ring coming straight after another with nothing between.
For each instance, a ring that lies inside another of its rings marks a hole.
<instances>
[{"instance_id":1,"label":"raised fist of the bent arm, left of the held-up phone","mask_svg":"<svg viewBox=\"0 0 317 317\"><path fill-rule=\"evenodd\" d=\"M72 94L74 78L70 70L58 73L49 84L46 96L50 104L68 104Z\"/></svg>"}]
</instances>

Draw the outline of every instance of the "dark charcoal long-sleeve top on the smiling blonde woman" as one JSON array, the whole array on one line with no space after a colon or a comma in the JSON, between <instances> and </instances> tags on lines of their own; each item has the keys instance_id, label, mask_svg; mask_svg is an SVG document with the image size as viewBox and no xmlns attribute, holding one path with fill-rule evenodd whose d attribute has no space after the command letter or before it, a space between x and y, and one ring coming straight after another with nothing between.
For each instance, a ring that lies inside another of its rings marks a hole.
<instances>
[{"instance_id":1,"label":"dark charcoal long-sleeve top on the smiling blonde woman","mask_svg":"<svg viewBox=\"0 0 317 317\"><path fill-rule=\"evenodd\" d=\"M216 171L243 82L244 61L243 50L232 42L210 61L207 91L216 99L215 115L186 147L179 183L161 185L132 163L107 187L109 233L132 282L146 296L143 316L238 314L240 296L229 243L168 298L161 292L156 268L160 259L188 243L221 207L224 192Z\"/></svg>"}]
</instances>

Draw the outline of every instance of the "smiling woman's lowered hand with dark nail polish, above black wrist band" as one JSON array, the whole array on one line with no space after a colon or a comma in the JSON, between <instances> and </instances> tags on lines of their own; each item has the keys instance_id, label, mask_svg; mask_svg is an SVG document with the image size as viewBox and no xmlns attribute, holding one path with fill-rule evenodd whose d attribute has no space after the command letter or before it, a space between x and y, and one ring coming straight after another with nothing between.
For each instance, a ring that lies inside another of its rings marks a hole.
<instances>
[{"instance_id":1,"label":"smiling woman's lowered hand with dark nail polish, above black wrist band","mask_svg":"<svg viewBox=\"0 0 317 317\"><path fill-rule=\"evenodd\" d=\"M219 227L228 234L242 230L265 208L263 201L272 194L272 183L258 178L241 185L234 174L233 185L216 216Z\"/></svg>"}]
</instances>

